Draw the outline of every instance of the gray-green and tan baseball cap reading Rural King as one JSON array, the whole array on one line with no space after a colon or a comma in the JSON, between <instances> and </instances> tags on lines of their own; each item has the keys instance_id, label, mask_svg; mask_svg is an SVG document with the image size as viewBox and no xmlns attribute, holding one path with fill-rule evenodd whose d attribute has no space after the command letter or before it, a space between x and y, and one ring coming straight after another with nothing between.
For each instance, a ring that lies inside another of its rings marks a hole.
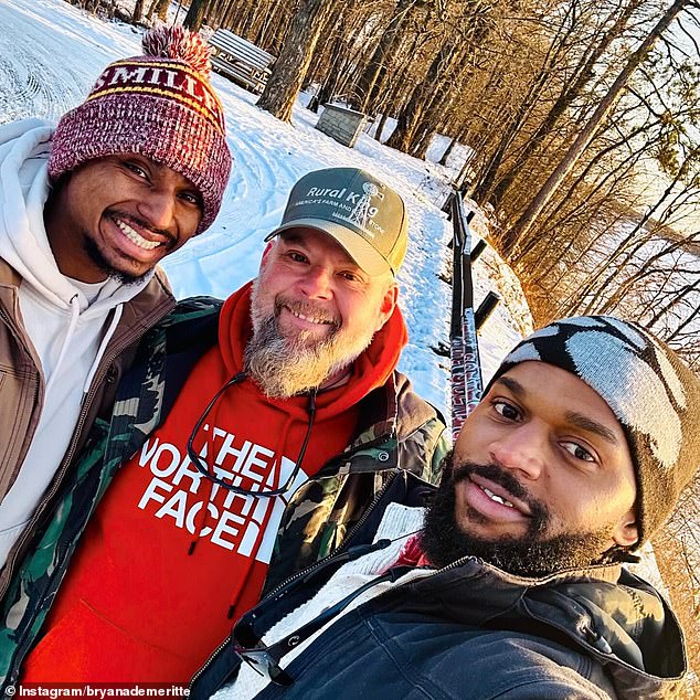
<instances>
[{"instance_id":1,"label":"gray-green and tan baseball cap reading Rural King","mask_svg":"<svg viewBox=\"0 0 700 700\"><path fill-rule=\"evenodd\" d=\"M293 188L282 223L266 236L309 227L327 233L369 275L399 272L409 243L409 215L401 195L359 168L327 168Z\"/></svg>"}]
</instances>

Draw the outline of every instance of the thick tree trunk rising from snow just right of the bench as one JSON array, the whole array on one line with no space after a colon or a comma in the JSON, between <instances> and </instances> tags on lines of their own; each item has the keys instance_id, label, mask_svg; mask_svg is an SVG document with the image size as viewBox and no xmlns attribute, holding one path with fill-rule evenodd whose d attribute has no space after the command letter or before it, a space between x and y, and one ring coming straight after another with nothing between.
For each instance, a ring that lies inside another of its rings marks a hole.
<instances>
[{"instance_id":1,"label":"thick tree trunk rising from snow just right of the bench","mask_svg":"<svg viewBox=\"0 0 700 700\"><path fill-rule=\"evenodd\" d=\"M316 42L331 0L301 0L257 106L283 121L291 108L309 68Z\"/></svg>"}]
</instances>

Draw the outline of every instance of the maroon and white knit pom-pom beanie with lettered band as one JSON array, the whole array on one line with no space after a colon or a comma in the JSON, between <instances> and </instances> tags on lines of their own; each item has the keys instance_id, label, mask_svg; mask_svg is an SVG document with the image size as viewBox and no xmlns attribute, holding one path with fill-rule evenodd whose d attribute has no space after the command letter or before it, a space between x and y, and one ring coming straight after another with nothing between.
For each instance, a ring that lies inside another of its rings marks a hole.
<instances>
[{"instance_id":1,"label":"maroon and white knit pom-pom beanie with lettered band","mask_svg":"<svg viewBox=\"0 0 700 700\"><path fill-rule=\"evenodd\" d=\"M221 102L209 83L209 47L180 25L144 35L146 55L108 65L87 99L63 115L49 176L93 158L140 153L179 172L202 194L198 233L214 221L231 172Z\"/></svg>"}]
</instances>

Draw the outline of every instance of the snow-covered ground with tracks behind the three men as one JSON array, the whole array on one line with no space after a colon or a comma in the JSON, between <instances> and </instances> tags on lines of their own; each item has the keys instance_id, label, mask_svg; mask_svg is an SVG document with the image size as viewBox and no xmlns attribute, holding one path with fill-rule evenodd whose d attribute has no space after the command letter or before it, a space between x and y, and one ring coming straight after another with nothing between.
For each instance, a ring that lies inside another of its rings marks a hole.
<instances>
[{"instance_id":1,"label":"snow-covered ground with tracks behind the three men","mask_svg":"<svg viewBox=\"0 0 700 700\"><path fill-rule=\"evenodd\" d=\"M0 26L0 124L29 116L57 120L83 102L107 63L141 53L139 30L105 23L63 0L2 0ZM254 95L221 76L214 75L212 83L225 108L235 165L212 229L163 265L178 297L225 297L254 277L264 235L279 222L299 177L330 166L365 168L392 184L409 206L411 242L399 278L411 342L401 369L447 415L448 362L431 346L448 341L450 289L437 275L450 255L446 245L452 226L441 212L450 172L388 149L367 135L348 149L314 128L318 115L301 102L294 125L287 125L257 109ZM529 332L531 319L518 280L492 251L476 264L475 274L477 303L488 289L506 299L481 337L487 378Z\"/></svg>"}]
</instances>

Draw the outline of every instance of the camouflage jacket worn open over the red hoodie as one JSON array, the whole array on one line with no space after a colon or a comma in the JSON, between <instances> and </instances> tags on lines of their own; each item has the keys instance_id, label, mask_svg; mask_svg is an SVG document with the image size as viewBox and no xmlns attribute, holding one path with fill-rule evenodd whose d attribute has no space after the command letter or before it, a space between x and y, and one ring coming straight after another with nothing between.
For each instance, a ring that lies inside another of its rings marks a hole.
<instances>
[{"instance_id":1,"label":"camouflage jacket worn open over the red hoodie","mask_svg":"<svg viewBox=\"0 0 700 700\"><path fill-rule=\"evenodd\" d=\"M119 466L165 420L197 360L216 342L221 303L199 297L144 338L124 376L109 421L98 420L55 507L36 529L2 600L0 682L17 683L22 660L38 639L89 516ZM438 413L394 372L371 392L363 424L350 445L303 485L283 516L266 591L340 545L392 475L410 469L435 480L449 448Z\"/></svg>"}]
</instances>

